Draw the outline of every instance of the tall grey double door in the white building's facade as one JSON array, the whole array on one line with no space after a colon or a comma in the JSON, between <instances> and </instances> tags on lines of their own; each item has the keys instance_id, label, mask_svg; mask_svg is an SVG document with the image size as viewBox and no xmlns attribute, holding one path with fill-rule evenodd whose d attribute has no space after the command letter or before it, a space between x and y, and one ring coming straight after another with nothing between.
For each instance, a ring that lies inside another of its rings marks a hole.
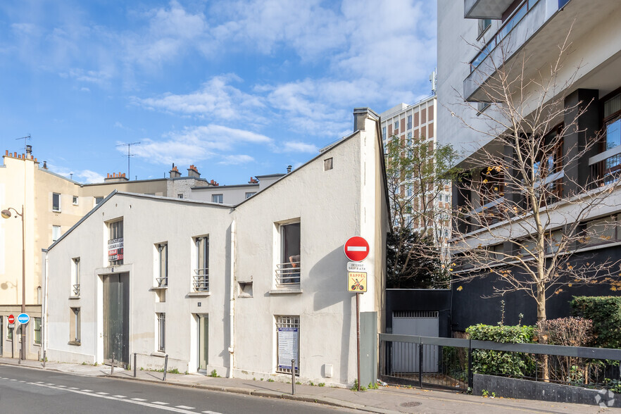
<instances>
[{"instance_id":1,"label":"tall grey double door in the white building's facade","mask_svg":"<svg viewBox=\"0 0 621 414\"><path fill-rule=\"evenodd\" d=\"M130 363L130 275L103 277L103 360L126 367Z\"/></svg>"}]
</instances>

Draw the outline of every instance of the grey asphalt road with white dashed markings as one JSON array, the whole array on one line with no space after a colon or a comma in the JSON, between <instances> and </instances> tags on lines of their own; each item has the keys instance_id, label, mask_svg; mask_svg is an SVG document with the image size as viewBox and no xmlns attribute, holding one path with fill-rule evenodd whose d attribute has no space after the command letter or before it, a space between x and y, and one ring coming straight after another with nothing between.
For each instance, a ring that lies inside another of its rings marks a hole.
<instances>
[{"instance_id":1,"label":"grey asphalt road with white dashed markings","mask_svg":"<svg viewBox=\"0 0 621 414\"><path fill-rule=\"evenodd\" d=\"M0 413L353 413L313 403L0 366Z\"/></svg>"}]
</instances>

